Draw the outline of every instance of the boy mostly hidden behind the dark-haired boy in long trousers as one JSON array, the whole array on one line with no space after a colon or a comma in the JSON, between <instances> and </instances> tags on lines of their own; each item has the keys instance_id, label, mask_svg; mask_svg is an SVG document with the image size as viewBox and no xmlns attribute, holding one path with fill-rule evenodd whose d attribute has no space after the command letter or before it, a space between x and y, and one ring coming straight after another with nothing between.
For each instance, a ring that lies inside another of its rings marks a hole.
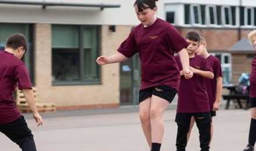
<instances>
[{"instance_id":1,"label":"boy mostly hidden behind the dark-haired boy in long trousers","mask_svg":"<svg viewBox=\"0 0 256 151\"><path fill-rule=\"evenodd\" d=\"M197 55L200 55L207 59L208 64L212 67L214 72L214 79L204 78L204 84L207 89L207 94L209 98L209 107L211 111L211 117L216 116L216 111L219 110L219 104L221 103L221 94L222 94L222 70L221 70L221 61L208 53L207 43L204 37L200 37L200 46L196 52ZM191 117L190 130L187 135L187 140L189 140L191 129L193 128L195 119ZM211 122L211 140L214 133L213 125ZM211 141L210 141L211 143Z\"/></svg>"}]
</instances>

